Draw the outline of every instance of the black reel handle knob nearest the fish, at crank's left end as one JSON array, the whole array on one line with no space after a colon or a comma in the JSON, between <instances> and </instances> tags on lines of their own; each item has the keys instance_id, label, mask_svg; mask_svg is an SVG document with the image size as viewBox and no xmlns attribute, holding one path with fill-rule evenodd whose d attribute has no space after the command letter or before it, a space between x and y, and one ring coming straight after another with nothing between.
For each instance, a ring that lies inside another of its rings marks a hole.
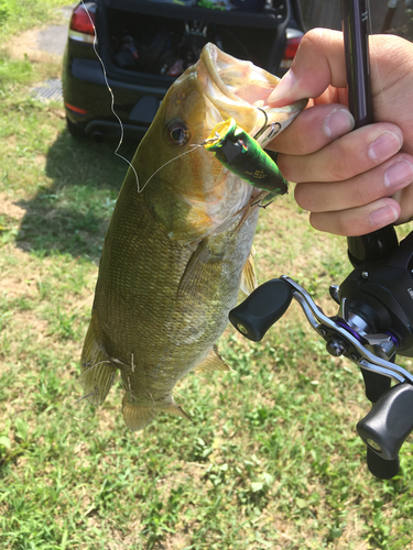
<instances>
[{"instance_id":1,"label":"black reel handle knob nearest the fish, at crank's left end","mask_svg":"<svg viewBox=\"0 0 413 550\"><path fill-rule=\"evenodd\" d=\"M291 285L286 280L274 278L256 288L233 308L229 312L229 320L243 337L259 342L285 314L292 299Z\"/></svg>"}]
</instances>

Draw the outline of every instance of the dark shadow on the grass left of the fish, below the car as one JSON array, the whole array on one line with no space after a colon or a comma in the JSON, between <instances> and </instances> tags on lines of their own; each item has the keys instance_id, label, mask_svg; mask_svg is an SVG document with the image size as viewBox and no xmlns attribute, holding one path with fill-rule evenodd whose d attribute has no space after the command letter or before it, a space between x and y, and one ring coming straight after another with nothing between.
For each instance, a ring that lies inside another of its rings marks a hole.
<instances>
[{"instance_id":1,"label":"dark shadow on the grass left of the fish, below the car","mask_svg":"<svg viewBox=\"0 0 413 550\"><path fill-rule=\"evenodd\" d=\"M132 160L137 142L122 144L120 154ZM25 251L53 251L97 260L128 164L115 155L117 143L74 139L65 130L47 152L46 176L52 186L40 187L17 235Z\"/></svg>"}]
</instances>

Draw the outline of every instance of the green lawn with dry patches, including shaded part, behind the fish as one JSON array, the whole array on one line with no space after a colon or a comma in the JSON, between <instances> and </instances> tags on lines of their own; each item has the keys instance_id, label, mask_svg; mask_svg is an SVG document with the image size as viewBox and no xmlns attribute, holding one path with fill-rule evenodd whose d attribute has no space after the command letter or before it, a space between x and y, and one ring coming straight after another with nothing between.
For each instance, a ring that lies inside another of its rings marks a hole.
<instances>
[{"instance_id":1,"label":"green lawn with dry patches, including shaded part, behind the fish","mask_svg":"<svg viewBox=\"0 0 413 550\"><path fill-rule=\"evenodd\" d=\"M193 424L159 415L133 435L119 387L96 414L76 403L126 165L112 144L70 138L59 105L30 98L47 70L0 66L0 548L413 548L412 443L398 477L369 475L360 374L325 352L297 305L262 343L228 329L219 346L235 372L178 387ZM262 212L256 248L260 282L286 273L336 312L345 239L309 229L290 196Z\"/></svg>"}]
</instances>

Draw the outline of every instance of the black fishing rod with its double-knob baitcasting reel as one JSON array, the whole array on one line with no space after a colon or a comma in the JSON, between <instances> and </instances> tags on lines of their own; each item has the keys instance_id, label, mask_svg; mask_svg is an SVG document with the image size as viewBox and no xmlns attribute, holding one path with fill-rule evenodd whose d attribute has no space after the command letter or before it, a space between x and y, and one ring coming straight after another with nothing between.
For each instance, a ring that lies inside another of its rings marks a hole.
<instances>
[{"instance_id":1,"label":"black fishing rod with its double-knob baitcasting reel","mask_svg":"<svg viewBox=\"0 0 413 550\"><path fill-rule=\"evenodd\" d=\"M341 15L349 109L360 128L373 121L366 0L341 0ZM259 286L230 311L229 320L257 342L293 298L300 304L327 351L361 370L372 408L357 431L367 447L369 471L385 480L399 472L399 451L413 431L413 375L395 363L398 354L413 356L413 232L399 243L389 226L348 238L347 245L354 271L329 289L336 316L327 317L302 286L283 275Z\"/></svg>"}]
</instances>

